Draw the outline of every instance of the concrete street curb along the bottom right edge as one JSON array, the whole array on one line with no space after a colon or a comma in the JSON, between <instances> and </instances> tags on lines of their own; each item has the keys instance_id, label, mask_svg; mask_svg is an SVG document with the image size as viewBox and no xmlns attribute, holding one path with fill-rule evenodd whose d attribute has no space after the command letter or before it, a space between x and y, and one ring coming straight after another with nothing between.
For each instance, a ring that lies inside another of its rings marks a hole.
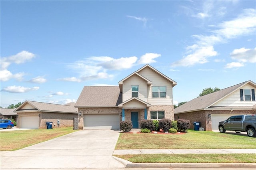
<instances>
[{"instance_id":1,"label":"concrete street curb along the bottom right edge","mask_svg":"<svg viewBox=\"0 0 256 170\"><path fill-rule=\"evenodd\" d=\"M126 168L254 168L256 163L134 163Z\"/></svg>"}]
</instances>

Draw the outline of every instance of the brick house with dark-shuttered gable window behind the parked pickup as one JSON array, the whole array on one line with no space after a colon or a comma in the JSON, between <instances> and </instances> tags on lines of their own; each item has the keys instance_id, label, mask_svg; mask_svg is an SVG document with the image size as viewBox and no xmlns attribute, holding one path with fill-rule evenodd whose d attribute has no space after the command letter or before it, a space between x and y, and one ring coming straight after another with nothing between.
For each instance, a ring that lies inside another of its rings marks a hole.
<instances>
[{"instance_id":1,"label":"brick house with dark-shuttered gable window behind the parked pickup","mask_svg":"<svg viewBox=\"0 0 256 170\"><path fill-rule=\"evenodd\" d=\"M243 83L192 99L174 109L175 119L200 122L204 130L218 130L218 123L232 115L256 114L256 83Z\"/></svg>"}]
</instances>

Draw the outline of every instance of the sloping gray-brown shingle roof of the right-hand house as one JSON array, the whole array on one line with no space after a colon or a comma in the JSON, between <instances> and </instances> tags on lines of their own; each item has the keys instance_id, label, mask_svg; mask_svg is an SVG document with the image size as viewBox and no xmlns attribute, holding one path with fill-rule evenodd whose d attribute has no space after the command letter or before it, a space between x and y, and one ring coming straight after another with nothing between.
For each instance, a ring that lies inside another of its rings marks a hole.
<instances>
[{"instance_id":1,"label":"sloping gray-brown shingle roof of the right-hand house","mask_svg":"<svg viewBox=\"0 0 256 170\"><path fill-rule=\"evenodd\" d=\"M174 109L174 113L176 114L204 110L247 83L255 85L255 83L252 81L245 81L243 83L228 87L226 89L222 89L214 93L204 95L202 97L197 97Z\"/></svg>"}]
</instances>

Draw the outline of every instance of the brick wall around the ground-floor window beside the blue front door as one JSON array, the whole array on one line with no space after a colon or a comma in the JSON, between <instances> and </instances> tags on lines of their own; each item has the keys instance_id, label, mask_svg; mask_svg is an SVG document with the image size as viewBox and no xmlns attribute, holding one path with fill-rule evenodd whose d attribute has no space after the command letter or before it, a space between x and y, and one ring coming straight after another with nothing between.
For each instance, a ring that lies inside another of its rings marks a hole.
<instances>
[{"instance_id":1,"label":"brick wall around the ground-floor window beside the blue front door","mask_svg":"<svg viewBox=\"0 0 256 170\"><path fill-rule=\"evenodd\" d=\"M164 118L174 120L174 105L153 105L148 109L148 119L150 111L164 111Z\"/></svg>"}]
</instances>

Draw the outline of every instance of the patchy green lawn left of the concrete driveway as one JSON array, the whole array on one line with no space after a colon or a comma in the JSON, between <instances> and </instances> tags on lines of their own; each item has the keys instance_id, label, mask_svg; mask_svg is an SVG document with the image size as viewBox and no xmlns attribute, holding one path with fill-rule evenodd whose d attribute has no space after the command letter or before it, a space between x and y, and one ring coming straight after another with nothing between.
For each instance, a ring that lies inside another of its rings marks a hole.
<instances>
[{"instance_id":1,"label":"patchy green lawn left of the concrete driveway","mask_svg":"<svg viewBox=\"0 0 256 170\"><path fill-rule=\"evenodd\" d=\"M18 150L75 131L73 127L0 131L0 150Z\"/></svg>"}]
</instances>

